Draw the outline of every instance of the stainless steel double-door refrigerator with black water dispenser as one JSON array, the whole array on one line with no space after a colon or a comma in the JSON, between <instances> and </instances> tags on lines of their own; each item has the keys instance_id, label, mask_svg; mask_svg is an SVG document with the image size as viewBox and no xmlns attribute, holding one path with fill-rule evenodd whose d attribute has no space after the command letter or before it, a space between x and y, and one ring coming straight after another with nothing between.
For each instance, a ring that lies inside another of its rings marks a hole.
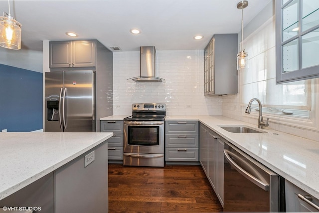
<instances>
[{"instance_id":1,"label":"stainless steel double-door refrigerator with black water dispenser","mask_svg":"<svg viewBox=\"0 0 319 213\"><path fill-rule=\"evenodd\" d=\"M95 72L45 73L45 132L95 132Z\"/></svg>"}]
</instances>

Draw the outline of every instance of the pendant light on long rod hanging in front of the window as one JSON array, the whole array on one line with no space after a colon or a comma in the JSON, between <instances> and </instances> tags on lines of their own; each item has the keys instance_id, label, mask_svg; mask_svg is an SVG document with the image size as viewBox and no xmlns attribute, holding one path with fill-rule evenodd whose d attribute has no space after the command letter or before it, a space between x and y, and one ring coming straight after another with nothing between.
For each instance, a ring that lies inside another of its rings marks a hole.
<instances>
[{"instance_id":1,"label":"pendant light on long rod hanging in front of the window","mask_svg":"<svg viewBox=\"0 0 319 213\"><path fill-rule=\"evenodd\" d=\"M237 3L237 8L241 9L241 51L237 54L237 70L248 68L248 53L243 49L243 37L244 37L244 26L243 26L243 9L248 6L247 0L242 0Z\"/></svg>"}]
</instances>

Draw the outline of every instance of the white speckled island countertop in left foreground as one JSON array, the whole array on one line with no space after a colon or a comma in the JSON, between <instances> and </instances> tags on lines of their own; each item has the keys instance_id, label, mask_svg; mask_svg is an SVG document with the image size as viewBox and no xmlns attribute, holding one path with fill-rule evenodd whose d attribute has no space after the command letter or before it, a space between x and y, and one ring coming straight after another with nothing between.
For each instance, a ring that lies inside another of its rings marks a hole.
<instances>
[{"instance_id":1,"label":"white speckled island countertop in left foreground","mask_svg":"<svg viewBox=\"0 0 319 213\"><path fill-rule=\"evenodd\" d=\"M0 200L112 136L113 133L0 133Z\"/></svg>"}]
</instances>

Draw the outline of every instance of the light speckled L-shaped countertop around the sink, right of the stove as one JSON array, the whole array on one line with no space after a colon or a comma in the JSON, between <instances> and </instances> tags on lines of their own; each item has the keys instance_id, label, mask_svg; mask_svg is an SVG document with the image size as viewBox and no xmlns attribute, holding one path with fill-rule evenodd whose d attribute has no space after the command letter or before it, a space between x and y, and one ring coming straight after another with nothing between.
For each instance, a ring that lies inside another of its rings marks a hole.
<instances>
[{"instance_id":1,"label":"light speckled L-shaped countertop around the sink, right of the stove","mask_svg":"<svg viewBox=\"0 0 319 213\"><path fill-rule=\"evenodd\" d=\"M108 120L105 118L105 120ZM319 142L272 129L267 133L239 134L221 125L256 125L224 116L166 116L165 121L200 121L221 137L264 164L275 173L319 199Z\"/></svg>"}]
</instances>

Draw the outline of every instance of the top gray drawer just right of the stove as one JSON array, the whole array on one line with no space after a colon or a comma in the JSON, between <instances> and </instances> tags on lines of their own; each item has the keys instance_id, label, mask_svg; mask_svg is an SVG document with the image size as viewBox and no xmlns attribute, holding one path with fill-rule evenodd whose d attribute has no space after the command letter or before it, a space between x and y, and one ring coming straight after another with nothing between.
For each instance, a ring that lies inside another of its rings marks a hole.
<instances>
[{"instance_id":1,"label":"top gray drawer just right of the stove","mask_svg":"<svg viewBox=\"0 0 319 213\"><path fill-rule=\"evenodd\" d=\"M166 121L166 134L198 134L198 121Z\"/></svg>"}]
</instances>

